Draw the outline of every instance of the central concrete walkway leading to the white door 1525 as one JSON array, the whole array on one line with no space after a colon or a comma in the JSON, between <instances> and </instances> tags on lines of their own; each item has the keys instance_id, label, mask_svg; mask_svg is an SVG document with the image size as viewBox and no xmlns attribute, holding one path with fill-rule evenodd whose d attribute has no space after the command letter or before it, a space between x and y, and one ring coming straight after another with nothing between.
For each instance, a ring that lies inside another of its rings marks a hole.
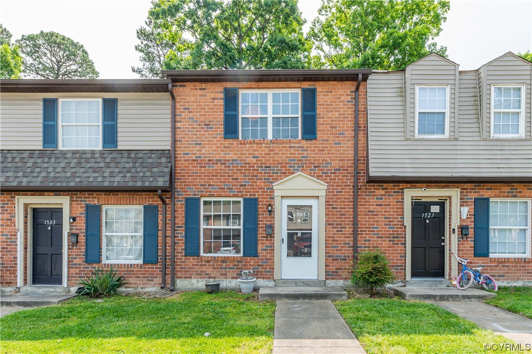
<instances>
[{"instance_id":1,"label":"central concrete walkway leading to the white door 1525","mask_svg":"<svg viewBox=\"0 0 532 354\"><path fill-rule=\"evenodd\" d=\"M332 302L277 301L273 353L365 353Z\"/></svg>"}]
</instances>

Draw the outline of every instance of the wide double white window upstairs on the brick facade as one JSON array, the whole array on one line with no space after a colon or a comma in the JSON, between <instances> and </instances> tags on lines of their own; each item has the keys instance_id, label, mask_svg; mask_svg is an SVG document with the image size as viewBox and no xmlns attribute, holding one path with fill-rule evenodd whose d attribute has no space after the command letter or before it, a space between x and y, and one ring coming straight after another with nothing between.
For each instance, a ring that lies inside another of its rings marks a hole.
<instances>
[{"instance_id":1,"label":"wide double white window upstairs on the brick facade","mask_svg":"<svg viewBox=\"0 0 532 354\"><path fill-rule=\"evenodd\" d=\"M300 138L299 90L240 90L240 138Z\"/></svg>"}]
</instances>

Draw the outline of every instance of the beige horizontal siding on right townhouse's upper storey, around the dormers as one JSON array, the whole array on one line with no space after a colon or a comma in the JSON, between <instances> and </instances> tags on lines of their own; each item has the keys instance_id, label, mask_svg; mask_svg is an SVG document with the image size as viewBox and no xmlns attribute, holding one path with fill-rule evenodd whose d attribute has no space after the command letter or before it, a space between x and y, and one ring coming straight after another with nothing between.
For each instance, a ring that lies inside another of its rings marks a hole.
<instances>
[{"instance_id":1,"label":"beige horizontal siding on right townhouse's upper storey, around the dormers","mask_svg":"<svg viewBox=\"0 0 532 354\"><path fill-rule=\"evenodd\" d=\"M405 139L402 71L373 73L368 79L370 175L372 177L532 178L529 139L482 139L477 71L459 73L455 139ZM449 74L450 75L450 74Z\"/></svg>"}]
</instances>

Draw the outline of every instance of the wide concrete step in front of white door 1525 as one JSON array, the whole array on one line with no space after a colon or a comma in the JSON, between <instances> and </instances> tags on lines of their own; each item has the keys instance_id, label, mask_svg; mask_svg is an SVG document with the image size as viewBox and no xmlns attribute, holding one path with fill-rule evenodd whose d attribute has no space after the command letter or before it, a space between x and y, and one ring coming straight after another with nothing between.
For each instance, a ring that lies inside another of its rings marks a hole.
<instances>
[{"instance_id":1,"label":"wide concrete step in front of white door 1525","mask_svg":"<svg viewBox=\"0 0 532 354\"><path fill-rule=\"evenodd\" d=\"M259 300L347 300L338 286L261 286Z\"/></svg>"}]
</instances>

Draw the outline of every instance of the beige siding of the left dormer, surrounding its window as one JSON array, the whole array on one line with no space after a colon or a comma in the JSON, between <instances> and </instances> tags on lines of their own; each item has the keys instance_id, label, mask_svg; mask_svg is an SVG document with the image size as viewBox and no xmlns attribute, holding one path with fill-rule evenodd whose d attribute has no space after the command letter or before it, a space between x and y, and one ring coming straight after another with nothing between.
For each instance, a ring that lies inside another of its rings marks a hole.
<instances>
[{"instance_id":1,"label":"beige siding of the left dormer, surrounding its window","mask_svg":"<svg viewBox=\"0 0 532 354\"><path fill-rule=\"evenodd\" d=\"M449 137L457 136L455 130L456 82L458 81L458 65L451 63L436 54L412 63L405 70L405 126L406 138L415 138L415 87L417 85L442 85L449 87Z\"/></svg>"}]
</instances>

